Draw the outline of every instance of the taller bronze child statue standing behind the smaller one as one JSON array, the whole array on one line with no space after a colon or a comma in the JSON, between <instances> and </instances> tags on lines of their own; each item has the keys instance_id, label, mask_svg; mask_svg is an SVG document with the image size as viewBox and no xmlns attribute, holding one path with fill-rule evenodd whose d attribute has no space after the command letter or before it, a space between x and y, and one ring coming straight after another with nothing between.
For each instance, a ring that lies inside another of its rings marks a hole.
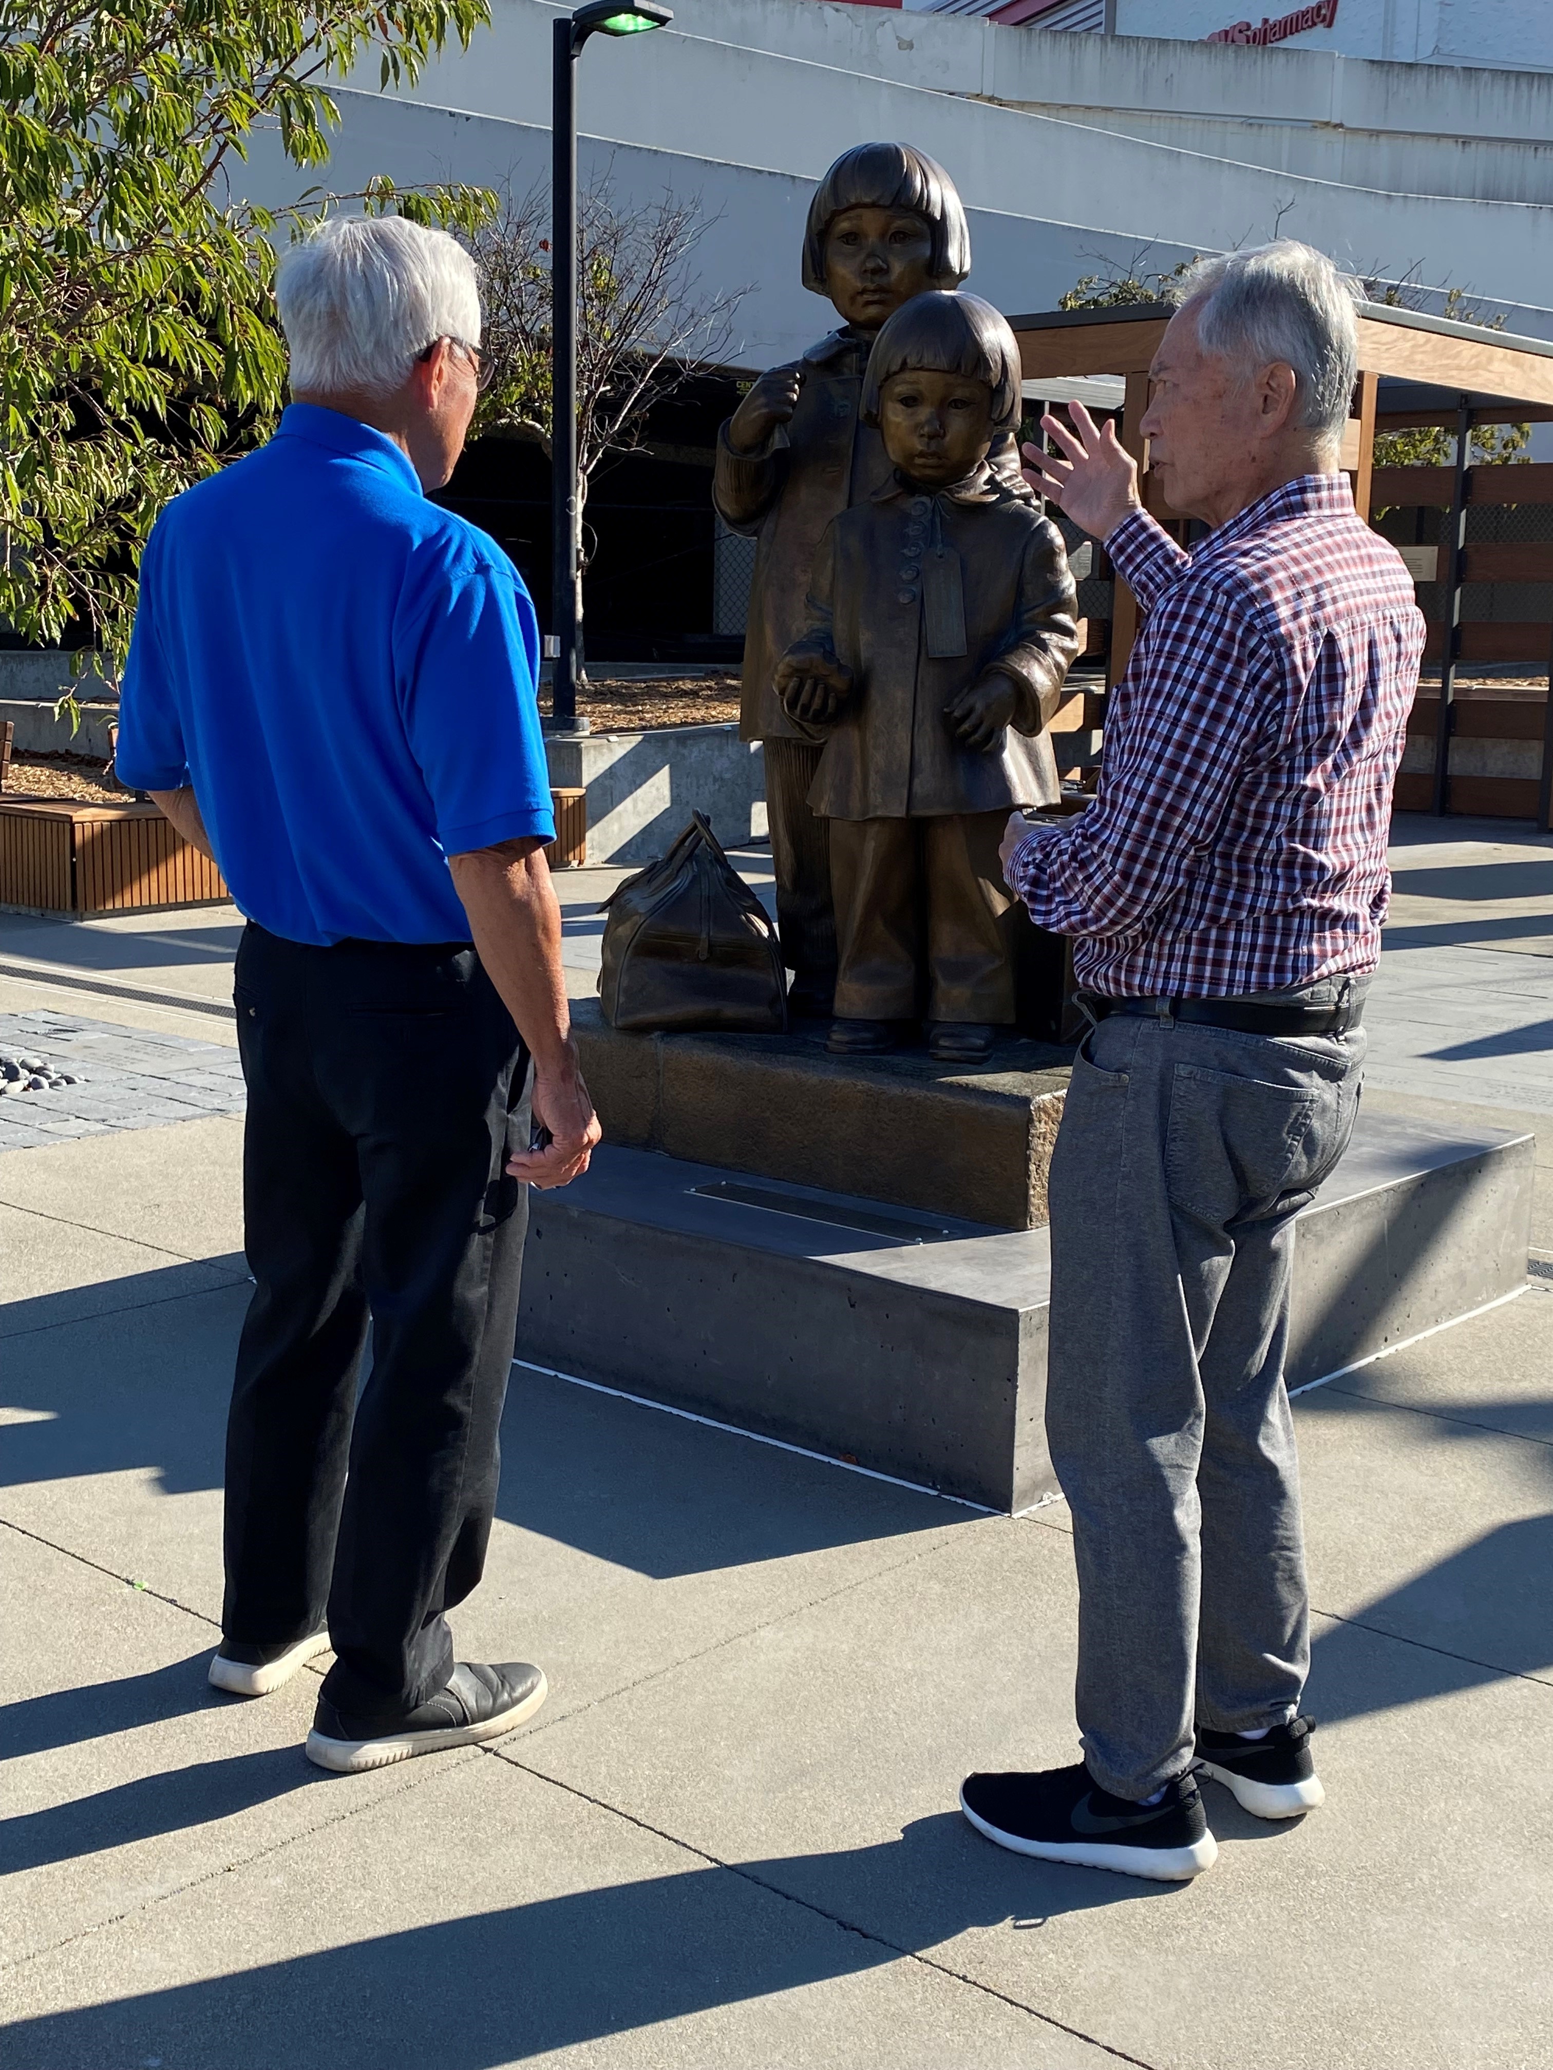
<instances>
[{"instance_id":1,"label":"taller bronze child statue standing behind the smaller one","mask_svg":"<svg viewBox=\"0 0 1553 2070\"><path fill-rule=\"evenodd\" d=\"M828 1014L837 983L826 822L808 805L822 747L803 739L777 696L777 662L805 627L805 596L826 526L892 478L857 404L878 331L911 296L959 288L971 271L971 232L942 166L903 143L863 143L820 180L803 232L803 286L843 319L801 360L772 366L716 441L712 501L735 530L760 540L743 644L739 733L764 741L766 811L777 871L777 923L793 971L791 1004ZM990 466L1029 499L1019 447L1000 433Z\"/></svg>"}]
</instances>

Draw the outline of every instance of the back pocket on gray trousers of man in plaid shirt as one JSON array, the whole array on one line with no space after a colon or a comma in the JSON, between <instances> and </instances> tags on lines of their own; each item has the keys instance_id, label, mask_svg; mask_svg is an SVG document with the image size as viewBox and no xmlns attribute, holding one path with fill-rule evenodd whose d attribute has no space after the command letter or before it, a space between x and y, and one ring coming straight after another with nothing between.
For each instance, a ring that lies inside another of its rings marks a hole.
<instances>
[{"instance_id":1,"label":"back pocket on gray trousers of man in plaid shirt","mask_svg":"<svg viewBox=\"0 0 1553 2070\"><path fill-rule=\"evenodd\" d=\"M1224 1228L1300 1192L1327 1147L1313 1126L1319 1103L1302 1087L1176 1064L1166 1128L1172 1205Z\"/></svg>"}]
</instances>

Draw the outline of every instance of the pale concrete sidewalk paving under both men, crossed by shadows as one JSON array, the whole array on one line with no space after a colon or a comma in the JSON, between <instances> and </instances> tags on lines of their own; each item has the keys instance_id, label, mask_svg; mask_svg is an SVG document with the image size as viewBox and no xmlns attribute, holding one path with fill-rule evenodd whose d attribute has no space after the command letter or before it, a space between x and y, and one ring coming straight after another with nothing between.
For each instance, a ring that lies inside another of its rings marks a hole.
<instances>
[{"instance_id":1,"label":"pale concrete sidewalk paving under both men, crossed by shadows","mask_svg":"<svg viewBox=\"0 0 1553 2070\"><path fill-rule=\"evenodd\" d=\"M1387 950L1367 1097L1547 1112L1553 965L1503 942L1553 942L1553 898L1483 871L1553 874L1553 845L1501 847L1408 863L1449 876L1396 925L1466 938ZM230 1045L37 975L219 1002L222 944L168 931L0 923L33 967L0 1012ZM1530 989L1476 975L1499 956ZM1499 1047L1431 1054L1464 1043ZM545 1664L534 1724L331 1778L300 1753L315 1670L215 1697L238 1138L209 1114L0 1153L8 2070L1553 2060L1549 1281L1300 1397L1329 1801L1269 1828L1209 1784L1218 1867L1145 1886L955 1811L971 1766L1075 1757L1060 1507L988 1517L524 1368L456 1629Z\"/></svg>"}]
</instances>

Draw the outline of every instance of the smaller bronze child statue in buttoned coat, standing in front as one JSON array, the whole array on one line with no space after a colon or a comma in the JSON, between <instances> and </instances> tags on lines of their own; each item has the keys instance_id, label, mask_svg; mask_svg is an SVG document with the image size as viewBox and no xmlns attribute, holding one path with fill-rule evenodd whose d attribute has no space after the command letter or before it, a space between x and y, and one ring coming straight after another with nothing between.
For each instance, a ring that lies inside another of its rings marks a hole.
<instances>
[{"instance_id":1,"label":"smaller bronze child statue in buttoned coat, standing in front","mask_svg":"<svg viewBox=\"0 0 1553 2070\"><path fill-rule=\"evenodd\" d=\"M1044 727L1077 652L1062 536L988 466L1019 373L973 294L890 317L861 418L895 474L830 522L777 669L826 743L810 805L830 822L837 1052L890 1049L926 1010L932 1056L973 1064L1015 1021L998 842L1010 809L1060 797Z\"/></svg>"}]
</instances>

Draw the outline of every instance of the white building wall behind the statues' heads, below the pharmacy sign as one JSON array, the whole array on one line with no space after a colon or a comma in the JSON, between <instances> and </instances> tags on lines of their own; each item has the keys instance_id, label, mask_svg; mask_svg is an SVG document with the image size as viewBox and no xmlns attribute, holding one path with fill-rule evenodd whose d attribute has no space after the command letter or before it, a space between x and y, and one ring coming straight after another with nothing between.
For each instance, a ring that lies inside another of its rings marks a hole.
<instances>
[{"instance_id":1,"label":"white building wall behind the statues' heads, below the pharmacy sign","mask_svg":"<svg viewBox=\"0 0 1553 2070\"><path fill-rule=\"evenodd\" d=\"M402 182L507 178L518 188L543 180L553 19L543 0L495 0L493 27L468 54L429 66L412 93L379 93L375 79L340 93L329 184L352 190L375 172ZM1280 91L1269 66L1290 64L1288 87L1298 91ZM1334 64L1321 54L1039 35L822 0L679 0L671 29L588 46L582 164L584 176L613 168L623 199L665 186L702 199L714 217L698 261L704 282L754 290L737 354L745 366L791 358L828 327L828 304L797 282L803 211L830 159L870 137L905 137L953 172L971 211L973 286L1010 313L1050 308L1079 273L1139 253L1168 267L1282 226L1358 271L1416 267L1427 286L1460 284L1510 306L1512 329L1553 335L1553 315L1522 306L1553 302L1553 193L1472 201L1352 186L1334 176L1336 153L1315 174L1267 168L1180 139L1122 135L1095 112L1110 95L1160 116L1172 91L1176 106L1211 108L1218 85L1220 106L1249 128L1300 110L1315 128L1321 91L1331 112L1342 87L1338 103L1362 108L1375 135L1396 141L1402 95L1391 81L1445 79L1472 91L1489 81L1499 93L1491 116L1505 124L1497 135L1518 139L1536 122L1553 135L1553 81L1545 89L1483 72ZM1153 101L1139 70L1153 79ZM1350 87L1350 72L1367 77ZM1054 79L1079 120L1029 106ZM1224 120L1203 116L1203 135L1215 137ZM317 178L257 151L248 190L288 201Z\"/></svg>"}]
</instances>

